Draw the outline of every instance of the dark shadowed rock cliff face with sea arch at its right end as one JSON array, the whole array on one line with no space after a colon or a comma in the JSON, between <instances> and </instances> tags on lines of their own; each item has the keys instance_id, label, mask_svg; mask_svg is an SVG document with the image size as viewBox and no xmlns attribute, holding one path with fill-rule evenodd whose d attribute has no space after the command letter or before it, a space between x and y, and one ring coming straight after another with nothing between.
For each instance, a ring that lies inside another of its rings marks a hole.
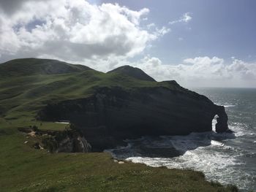
<instances>
[{"instance_id":1,"label":"dark shadowed rock cliff face with sea arch at its right end","mask_svg":"<svg viewBox=\"0 0 256 192\"><path fill-rule=\"evenodd\" d=\"M92 150L113 147L122 139L143 135L185 135L212 130L227 131L225 108L206 96L187 89L173 91L165 87L99 88L86 99L48 104L42 120L71 120L81 128Z\"/></svg>"}]
</instances>

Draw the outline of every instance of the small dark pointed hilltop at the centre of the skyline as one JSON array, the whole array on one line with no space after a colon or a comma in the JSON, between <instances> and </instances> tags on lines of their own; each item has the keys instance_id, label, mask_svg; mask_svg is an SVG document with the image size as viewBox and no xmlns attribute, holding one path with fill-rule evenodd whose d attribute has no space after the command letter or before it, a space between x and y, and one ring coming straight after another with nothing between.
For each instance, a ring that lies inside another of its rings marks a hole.
<instances>
[{"instance_id":1,"label":"small dark pointed hilltop at the centre of the skyline","mask_svg":"<svg viewBox=\"0 0 256 192\"><path fill-rule=\"evenodd\" d=\"M134 77L135 79L138 79L138 80L146 80L146 81L154 81L154 82L156 81L152 77L150 77L148 74L143 72L143 70L138 69L136 67L128 66L128 65L120 66L116 69L113 69L112 71L110 71L108 73L113 73L113 72L126 74L129 77Z\"/></svg>"}]
</instances>

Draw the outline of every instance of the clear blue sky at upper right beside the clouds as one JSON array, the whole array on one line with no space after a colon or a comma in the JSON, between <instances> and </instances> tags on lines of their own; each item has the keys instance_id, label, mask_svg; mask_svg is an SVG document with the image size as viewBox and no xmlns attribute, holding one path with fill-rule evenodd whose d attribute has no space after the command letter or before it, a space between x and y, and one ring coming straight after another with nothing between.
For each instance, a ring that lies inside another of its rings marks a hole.
<instances>
[{"instance_id":1,"label":"clear blue sky at upper right beside the clouds","mask_svg":"<svg viewBox=\"0 0 256 192\"><path fill-rule=\"evenodd\" d=\"M171 33L159 39L149 51L162 61L178 63L200 55L220 58L235 56L244 61L256 60L256 1L239 0L170 0L104 1L131 9L150 9L148 20L165 26L184 12L192 15L189 23L170 26ZM99 1L98 1L99 3ZM191 29L190 29L191 28ZM178 38L183 38L179 41Z\"/></svg>"}]
</instances>

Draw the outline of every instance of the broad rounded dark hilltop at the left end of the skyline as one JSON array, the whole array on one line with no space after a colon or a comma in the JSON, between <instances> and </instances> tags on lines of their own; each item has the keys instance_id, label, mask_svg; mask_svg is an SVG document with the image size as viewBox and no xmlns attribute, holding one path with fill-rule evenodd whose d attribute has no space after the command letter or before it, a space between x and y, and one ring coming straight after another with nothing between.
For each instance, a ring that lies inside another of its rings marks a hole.
<instances>
[{"instance_id":1,"label":"broad rounded dark hilltop at the left end of the skyline","mask_svg":"<svg viewBox=\"0 0 256 192\"><path fill-rule=\"evenodd\" d=\"M0 76L26 76L35 74L65 74L93 70L88 66L67 64L42 58L19 58L0 64Z\"/></svg>"}]
</instances>

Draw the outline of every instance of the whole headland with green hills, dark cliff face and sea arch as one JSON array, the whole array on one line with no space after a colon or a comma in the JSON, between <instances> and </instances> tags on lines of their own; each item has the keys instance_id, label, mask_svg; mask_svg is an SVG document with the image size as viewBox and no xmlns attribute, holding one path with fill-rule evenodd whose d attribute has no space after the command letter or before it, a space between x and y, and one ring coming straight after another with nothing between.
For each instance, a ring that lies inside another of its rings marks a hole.
<instances>
[{"instance_id":1,"label":"whole headland with green hills, dark cliff face and sea arch","mask_svg":"<svg viewBox=\"0 0 256 192\"><path fill-rule=\"evenodd\" d=\"M215 115L216 131L228 130L224 107L175 80L157 82L132 66L103 73L56 60L24 58L0 64L0 82L2 118L70 120L93 151L143 135L211 131Z\"/></svg>"}]
</instances>

